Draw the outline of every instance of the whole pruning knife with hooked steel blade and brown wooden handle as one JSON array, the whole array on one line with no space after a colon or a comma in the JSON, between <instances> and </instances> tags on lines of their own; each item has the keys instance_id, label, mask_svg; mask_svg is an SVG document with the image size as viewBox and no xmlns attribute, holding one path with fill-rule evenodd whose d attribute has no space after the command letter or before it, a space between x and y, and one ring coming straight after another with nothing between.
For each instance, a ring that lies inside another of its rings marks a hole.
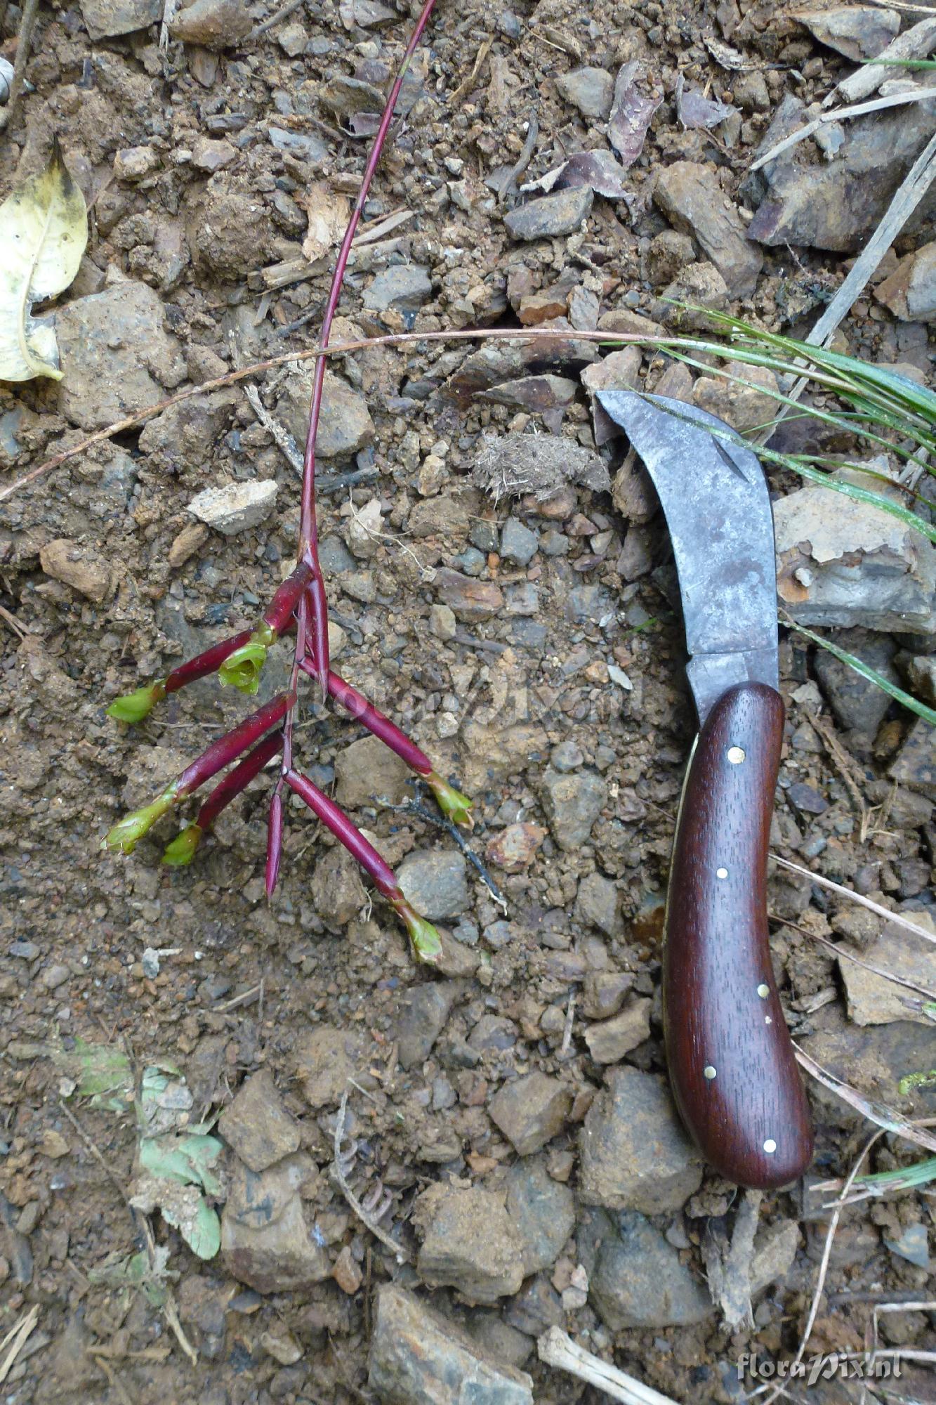
<instances>
[{"instance_id":1,"label":"whole pruning knife with hooked steel blade and brown wooden handle","mask_svg":"<svg viewBox=\"0 0 936 1405\"><path fill-rule=\"evenodd\" d=\"M767 846L783 740L773 517L758 457L704 410L599 391L654 479L673 542L698 712L666 902L663 1027L682 1118L728 1180L767 1190L812 1156L777 998Z\"/></svg>"}]
</instances>

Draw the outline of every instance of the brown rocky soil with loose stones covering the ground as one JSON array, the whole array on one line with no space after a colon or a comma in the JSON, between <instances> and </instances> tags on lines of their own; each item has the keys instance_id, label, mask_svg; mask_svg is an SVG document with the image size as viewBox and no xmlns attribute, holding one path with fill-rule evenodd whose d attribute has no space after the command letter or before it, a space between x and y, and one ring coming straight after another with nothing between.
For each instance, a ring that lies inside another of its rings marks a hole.
<instances>
[{"instance_id":1,"label":"brown rocky soil with loose stones covering the ground","mask_svg":"<svg viewBox=\"0 0 936 1405\"><path fill-rule=\"evenodd\" d=\"M56 133L91 235L55 312L62 381L0 386L4 473L312 343L413 14L325 0L264 28L273 14L170 6L160 42L157 0L41 10L0 187ZM10 58L20 18L0 7ZM288 572L309 362L260 374L254 399L243 384L193 396L3 504L0 1333L35 1308L10 1405L597 1401L538 1363L554 1325L676 1401L735 1401L742 1352L795 1350L829 1220L812 1186L846 1175L871 1127L811 1083L815 1165L765 1197L753 1314L727 1325L718 1246L743 1201L686 1141L662 1057L663 896L694 729L679 600L654 493L592 395L641 384L742 429L772 402L760 372L727 385L576 333L704 327L707 308L804 334L936 104L752 162L916 21L871 4L440 0L333 339L568 337L336 361L320 535L337 666L472 794L474 858L312 690L299 732L312 778L444 929L437 974L304 812L267 906L260 781L191 868L159 864L171 826L131 858L98 853L119 812L245 711L207 680L135 731L104 715L256 617ZM866 72L849 101L921 81ZM929 197L836 340L928 384L932 212ZM808 419L777 443L859 451ZM936 551L793 476L772 488L784 607L933 704ZM933 729L787 631L780 662L774 853L936 932ZM277 658L263 695L285 677ZM788 870L770 915L802 1048L933 1117L932 1087L898 1090L936 1065L925 996L870 969L932 992L932 944ZM139 1145L183 1130L219 1145L201 1189L173 1197ZM870 1169L923 1155L884 1135ZM810 1353L860 1350L880 1304L898 1308L878 1318L883 1345L932 1350L932 1309L901 1309L932 1295L932 1203L846 1210ZM200 1205L221 1215L204 1259L181 1236ZM904 1373L902 1398L930 1398ZM808 1398L860 1391L826 1381Z\"/></svg>"}]
</instances>

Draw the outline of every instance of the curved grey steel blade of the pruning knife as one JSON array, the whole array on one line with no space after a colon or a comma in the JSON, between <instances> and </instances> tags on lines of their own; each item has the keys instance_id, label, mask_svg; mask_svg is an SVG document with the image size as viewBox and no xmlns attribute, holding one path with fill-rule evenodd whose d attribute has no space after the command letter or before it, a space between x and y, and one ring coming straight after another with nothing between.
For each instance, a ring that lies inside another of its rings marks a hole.
<instances>
[{"instance_id":1,"label":"curved grey steel blade of the pruning knife","mask_svg":"<svg viewBox=\"0 0 936 1405\"><path fill-rule=\"evenodd\" d=\"M599 391L597 399L646 464L666 514L701 725L734 683L777 687L777 575L763 469L752 450L729 441L736 434L724 420L684 400L634 391Z\"/></svg>"}]
</instances>

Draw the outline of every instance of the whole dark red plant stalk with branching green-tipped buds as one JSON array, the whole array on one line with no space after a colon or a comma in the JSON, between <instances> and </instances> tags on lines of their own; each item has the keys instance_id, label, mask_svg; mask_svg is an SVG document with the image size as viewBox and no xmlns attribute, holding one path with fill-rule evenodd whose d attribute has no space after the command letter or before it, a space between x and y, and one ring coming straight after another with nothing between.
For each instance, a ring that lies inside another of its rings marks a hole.
<instances>
[{"instance_id":1,"label":"whole dark red plant stalk with branching green-tipped buds","mask_svg":"<svg viewBox=\"0 0 936 1405\"><path fill-rule=\"evenodd\" d=\"M371 148L358 197L349 219L342 247L334 263L332 288L322 319L319 346L329 344L332 322L342 295L351 243L357 232L364 202L377 170L386 135L394 118L394 108L406 76L409 62L429 22L436 0L426 0L410 35L399 72L386 98L374 145ZM294 729L299 684L305 677L318 680L322 693L333 698L357 722L367 728L385 746L395 752L413 773L433 790L443 813L460 825L471 826L471 801L448 784L433 767L426 753L416 746L388 717L372 702L339 677L329 660L329 621L325 580L319 565L318 524L315 511L315 441L322 412L322 391L325 386L325 357L318 357L312 381L312 402L309 409L309 431L302 466L302 496L299 514L299 542L297 565L274 593L260 624L254 629L223 639L197 658L181 663L164 679L149 683L115 698L108 707L108 715L121 722L141 722L170 693L177 693L188 683L218 674L222 684L229 684L245 694L256 694L260 673L268 651L277 639L295 629L292 672L290 687L277 694L263 707L239 722L225 736L218 738L190 766L187 766L149 805L125 815L104 837L103 847L132 853L143 835L167 811L173 809L201 785L225 771L202 802L195 819L190 822L167 846L163 863L178 867L191 863L201 836L215 822L221 811L230 804L253 781L266 766L280 757L270 813L267 823L266 889L273 896L282 861L284 794L297 795L312 813L344 844L377 891L389 902L409 933L413 951L422 961L436 961L441 953L438 933L424 917L409 905L395 874L381 858L374 846L351 823L347 815L304 776L294 762ZM226 770L230 767L230 770Z\"/></svg>"}]
</instances>

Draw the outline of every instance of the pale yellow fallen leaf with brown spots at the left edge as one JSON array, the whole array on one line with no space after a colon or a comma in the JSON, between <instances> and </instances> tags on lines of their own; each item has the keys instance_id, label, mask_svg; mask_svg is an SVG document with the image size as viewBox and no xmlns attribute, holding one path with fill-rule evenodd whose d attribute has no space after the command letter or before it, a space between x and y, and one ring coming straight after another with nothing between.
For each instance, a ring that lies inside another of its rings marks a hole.
<instances>
[{"instance_id":1,"label":"pale yellow fallen leaf with brown spots at the left edge","mask_svg":"<svg viewBox=\"0 0 936 1405\"><path fill-rule=\"evenodd\" d=\"M62 379L51 318L32 303L63 292L87 244L87 208L58 142L39 176L0 205L0 381Z\"/></svg>"}]
</instances>

